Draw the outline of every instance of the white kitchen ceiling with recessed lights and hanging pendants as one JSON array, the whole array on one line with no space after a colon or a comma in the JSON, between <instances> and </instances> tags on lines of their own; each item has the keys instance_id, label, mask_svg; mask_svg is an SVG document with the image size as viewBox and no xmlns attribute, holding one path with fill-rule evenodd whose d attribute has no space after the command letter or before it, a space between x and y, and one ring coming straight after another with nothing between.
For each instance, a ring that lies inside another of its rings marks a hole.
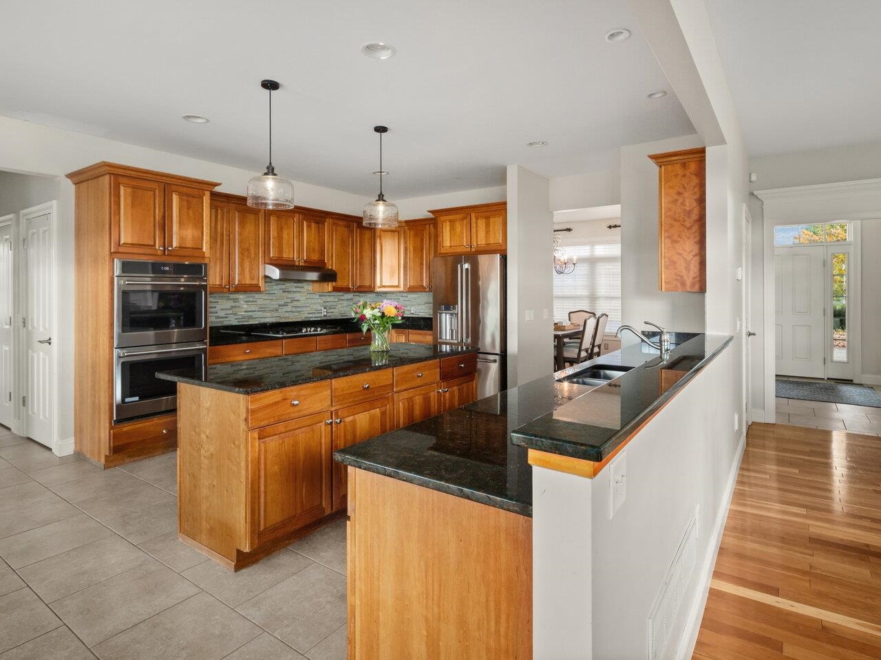
<instances>
[{"instance_id":1,"label":"white kitchen ceiling with recessed lights and hanging pendants","mask_svg":"<svg viewBox=\"0 0 881 660\"><path fill-rule=\"evenodd\" d=\"M0 0L0 114L390 199L558 177L693 132L623 0ZM603 40L613 27L633 37ZM372 60L361 44L397 55ZM204 125L181 114L203 114ZM546 140L534 149L530 140ZM85 164L84 164L85 165Z\"/></svg>"}]
</instances>

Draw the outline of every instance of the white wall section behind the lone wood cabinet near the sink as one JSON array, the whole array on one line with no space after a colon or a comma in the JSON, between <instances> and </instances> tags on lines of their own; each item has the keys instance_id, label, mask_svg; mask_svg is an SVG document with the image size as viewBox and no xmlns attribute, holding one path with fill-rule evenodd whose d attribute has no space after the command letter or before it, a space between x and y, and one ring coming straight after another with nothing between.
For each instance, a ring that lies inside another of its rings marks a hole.
<instances>
[{"instance_id":1,"label":"white wall section behind the lone wood cabinet near the sink","mask_svg":"<svg viewBox=\"0 0 881 660\"><path fill-rule=\"evenodd\" d=\"M658 290L658 168L648 154L700 147L699 136L621 149L621 314L680 332L704 331L704 294ZM708 261L708 260L707 260Z\"/></svg>"}]
</instances>

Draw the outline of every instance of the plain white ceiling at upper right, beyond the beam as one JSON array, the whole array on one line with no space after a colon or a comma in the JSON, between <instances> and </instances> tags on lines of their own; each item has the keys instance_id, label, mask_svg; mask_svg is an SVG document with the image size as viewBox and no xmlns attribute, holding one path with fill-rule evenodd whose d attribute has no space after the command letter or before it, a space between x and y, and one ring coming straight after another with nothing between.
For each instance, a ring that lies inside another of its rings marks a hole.
<instances>
[{"instance_id":1,"label":"plain white ceiling at upper right, beyond the beam","mask_svg":"<svg viewBox=\"0 0 881 660\"><path fill-rule=\"evenodd\" d=\"M881 140L879 0L705 0L752 156Z\"/></svg>"}]
</instances>

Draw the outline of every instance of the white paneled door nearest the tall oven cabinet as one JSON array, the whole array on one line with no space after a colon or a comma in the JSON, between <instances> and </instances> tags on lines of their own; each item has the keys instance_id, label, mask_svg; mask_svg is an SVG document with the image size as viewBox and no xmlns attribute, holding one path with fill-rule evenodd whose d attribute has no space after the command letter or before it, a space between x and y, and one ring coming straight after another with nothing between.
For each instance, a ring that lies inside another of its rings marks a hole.
<instances>
[{"instance_id":1,"label":"white paneled door nearest the tall oven cabinet","mask_svg":"<svg viewBox=\"0 0 881 660\"><path fill-rule=\"evenodd\" d=\"M55 378L52 349L52 236L48 211L22 213L25 295L24 435L38 443L55 444L52 391Z\"/></svg>"}]
</instances>

